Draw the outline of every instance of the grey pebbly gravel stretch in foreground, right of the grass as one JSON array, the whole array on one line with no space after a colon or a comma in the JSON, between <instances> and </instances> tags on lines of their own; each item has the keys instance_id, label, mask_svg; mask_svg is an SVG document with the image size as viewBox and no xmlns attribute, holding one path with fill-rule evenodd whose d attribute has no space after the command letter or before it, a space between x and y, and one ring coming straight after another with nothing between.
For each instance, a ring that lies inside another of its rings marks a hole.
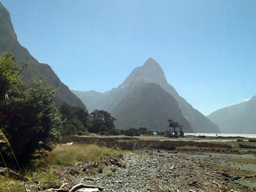
<instances>
[{"instance_id":1,"label":"grey pebbly gravel stretch in foreground, right of the grass","mask_svg":"<svg viewBox=\"0 0 256 192\"><path fill-rule=\"evenodd\" d=\"M117 168L113 176L103 173L95 181L83 180L86 185L104 188L103 191L222 191L231 181L225 181L219 173L210 167L204 167L178 155L163 156L161 153L126 153L126 168ZM92 178L92 177L90 177ZM77 181L78 182L78 181ZM216 182L216 183L214 183Z\"/></svg>"}]
</instances>

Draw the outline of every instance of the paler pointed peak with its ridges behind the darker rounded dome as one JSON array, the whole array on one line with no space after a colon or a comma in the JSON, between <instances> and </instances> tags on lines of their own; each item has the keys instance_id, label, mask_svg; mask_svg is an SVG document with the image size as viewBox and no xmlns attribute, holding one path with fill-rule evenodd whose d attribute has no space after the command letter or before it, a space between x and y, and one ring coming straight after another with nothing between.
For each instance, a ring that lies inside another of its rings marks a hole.
<instances>
[{"instance_id":1,"label":"paler pointed peak with its ridges behind the darker rounded dome","mask_svg":"<svg viewBox=\"0 0 256 192\"><path fill-rule=\"evenodd\" d=\"M117 119L118 117L121 117L121 119L118 119L117 125L119 124L118 122L122 121L126 122L127 124L127 126L123 127L130 127L133 124L132 120L129 121L130 123L123 120L124 117L118 114L121 113L121 110L117 108L121 106L121 103L127 103L126 107L122 109L129 108L129 103L135 104L137 102L138 104L138 101L131 102L126 101L126 99L131 98L129 97L129 95L135 94L133 90L135 90L138 85L146 85L147 83L155 83L156 85L159 85L165 92L167 92L171 95L171 97L174 98L174 100L178 103L179 109L181 109L183 117L188 121L188 123L190 123L194 132L220 133L219 127L216 124L214 124L204 115L202 115L198 110L194 109L189 103L187 103L187 101L184 100L184 98L179 96L178 92L176 92L173 86L168 84L161 66L151 58L148 59L143 66L135 68L130 73L129 77L127 77L126 80L124 80L124 82L120 86L118 86L118 88L114 88L111 91L105 92L100 97L95 97L95 100L93 100L92 102L97 103L97 105L95 104L95 106L91 108L97 109L96 107L98 107L98 109L107 110L110 112L110 114L116 115ZM83 98L88 97L88 94L89 92L80 92L80 94L77 94L77 96L83 100ZM158 93L155 92L155 94ZM139 97L138 94L136 95L137 97ZM134 100L135 98L133 98L133 101ZM83 101L86 104L87 101ZM142 102L142 100L140 101ZM135 107L135 109L137 108ZM168 119L170 118L171 117L169 117ZM151 127L150 125L148 126Z\"/></svg>"}]
</instances>

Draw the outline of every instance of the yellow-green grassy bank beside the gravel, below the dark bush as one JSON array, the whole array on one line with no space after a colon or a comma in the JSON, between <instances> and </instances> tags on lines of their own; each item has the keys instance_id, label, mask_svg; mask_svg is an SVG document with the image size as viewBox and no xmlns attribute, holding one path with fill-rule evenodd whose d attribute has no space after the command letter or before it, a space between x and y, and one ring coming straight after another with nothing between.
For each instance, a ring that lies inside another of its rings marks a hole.
<instances>
[{"instance_id":1,"label":"yellow-green grassy bank beside the gravel, below the dark bush","mask_svg":"<svg viewBox=\"0 0 256 192\"><path fill-rule=\"evenodd\" d=\"M88 164L99 167L96 169L98 171L105 166L104 163L100 163L101 161L104 162L106 158L118 158L121 155L120 151L95 144L76 143L71 146L56 146L44 158L34 162L33 170L23 170L25 178L29 180L26 185L34 185L33 183L36 182L43 187L58 188L63 181L68 181L69 177L80 173L81 167L75 167L75 164L85 165L89 162ZM0 192L17 191L25 191L21 180L10 178L8 175L1 176Z\"/></svg>"}]
</instances>

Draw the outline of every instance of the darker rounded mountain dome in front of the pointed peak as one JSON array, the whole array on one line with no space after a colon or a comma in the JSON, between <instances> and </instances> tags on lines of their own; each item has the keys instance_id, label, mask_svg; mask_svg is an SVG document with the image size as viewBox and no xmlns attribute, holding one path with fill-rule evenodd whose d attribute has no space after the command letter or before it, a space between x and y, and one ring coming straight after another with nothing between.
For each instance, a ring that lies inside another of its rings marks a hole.
<instances>
[{"instance_id":1,"label":"darker rounded mountain dome in front of the pointed peak","mask_svg":"<svg viewBox=\"0 0 256 192\"><path fill-rule=\"evenodd\" d=\"M177 101L156 83L141 83L112 110L117 127L147 127L149 130L168 129L167 120L173 119L184 125L185 132L193 132L183 117Z\"/></svg>"}]
</instances>

